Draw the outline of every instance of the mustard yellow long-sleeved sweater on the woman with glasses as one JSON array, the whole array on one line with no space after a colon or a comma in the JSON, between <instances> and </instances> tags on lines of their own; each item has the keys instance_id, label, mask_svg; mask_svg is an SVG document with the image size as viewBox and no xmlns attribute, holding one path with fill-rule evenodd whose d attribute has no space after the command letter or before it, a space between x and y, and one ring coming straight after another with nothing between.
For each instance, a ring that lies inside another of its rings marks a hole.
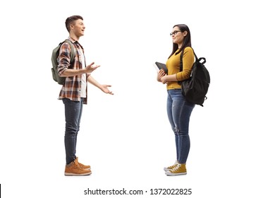
<instances>
[{"instance_id":1,"label":"mustard yellow long-sleeved sweater on the woman with glasses","mask_svg":"<svg viewBox=\"0 0 275 198\"><path fill-rule=\"evenodd\" d=\"M191 47L185 47L183 52L183 71L181 72L180 72L181 52L176 55L175 54L173 54L166 62L168 75L176 74L177 80L183 81L190 77L192 66L194 63L194 52ZM178 81L169 81L167 83L167 89L181 88L181 86L178 84Z\"/></svg>"}]
</instances>

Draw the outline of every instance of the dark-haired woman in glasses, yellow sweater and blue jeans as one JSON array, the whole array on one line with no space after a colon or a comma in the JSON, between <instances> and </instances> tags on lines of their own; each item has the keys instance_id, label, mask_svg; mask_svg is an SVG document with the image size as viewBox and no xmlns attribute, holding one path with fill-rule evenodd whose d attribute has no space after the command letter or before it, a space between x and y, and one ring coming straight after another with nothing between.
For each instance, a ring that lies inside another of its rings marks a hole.
<instances>
[{"instance_id":1,"label":"dark-haired woman in glasses, yellow sweater and blue jeans","mask_svg":"<svg viewBox=\"0 0 275 198\"><path fill-rule=\"evenodd\" d=\"M194 63L194 52L191 48L190 30L185 24L173 26L170 33L173 40L173 50L166 62L168 74L161 69L157 75L157 81L166 83L167 88L167 114L169 122L175 134L176 140L176 162L164 168L166 175L185 175L185 163L190 150L190 139L188 134L189 120L194 104L188 103L181 93L183 81L190 77ZM183 51L183 71L180 72L180 57Z\"/></svg>"}]
</instances>

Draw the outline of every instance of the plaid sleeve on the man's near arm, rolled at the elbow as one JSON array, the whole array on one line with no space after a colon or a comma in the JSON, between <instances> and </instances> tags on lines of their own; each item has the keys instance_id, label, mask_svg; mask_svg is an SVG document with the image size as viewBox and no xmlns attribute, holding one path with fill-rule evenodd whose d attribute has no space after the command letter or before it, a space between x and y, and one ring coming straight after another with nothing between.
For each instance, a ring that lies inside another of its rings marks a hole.
<instances>
[{"instance_id":1,"label":"plaid sleeve on the man's near arm, rolled at the elbow","mask_svg":"<svg viewBox=\"0 0 275 198\"><path fill-rule=\"evenodd\" d=\"M59 57L57 58L57 62L59 63L59 66L57 67L57 71L59 71L59 76L68 69L70 66L70 52L71 52L71 46L64 42L59 50Z\"/></svg>"}]
</instances>

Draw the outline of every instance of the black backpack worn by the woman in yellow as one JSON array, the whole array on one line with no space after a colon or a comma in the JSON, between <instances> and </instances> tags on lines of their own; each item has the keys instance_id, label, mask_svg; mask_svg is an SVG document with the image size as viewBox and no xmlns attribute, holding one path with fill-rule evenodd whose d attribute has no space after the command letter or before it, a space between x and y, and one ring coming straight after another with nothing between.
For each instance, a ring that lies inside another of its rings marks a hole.
<instances>
[{"instance_id":1,"label":"black backpack worn by the woman in yellow","mask_svg":"<svg viewBox=\"0 0 275 198\"><path fill-rule=\"evenodd\" d=\"M206 94L210 84L210 75L204 66L206 59L203 57L197 59L196 54L195 58L196 60L193 64L190 78L181 81L181 92L188 102L203 107L202 104L204 103L204 100L207 99ZM202 60L203 62L201 62ZM183 51L181 52L180 71L183 71Z\"/></svg>"}]
</instances>

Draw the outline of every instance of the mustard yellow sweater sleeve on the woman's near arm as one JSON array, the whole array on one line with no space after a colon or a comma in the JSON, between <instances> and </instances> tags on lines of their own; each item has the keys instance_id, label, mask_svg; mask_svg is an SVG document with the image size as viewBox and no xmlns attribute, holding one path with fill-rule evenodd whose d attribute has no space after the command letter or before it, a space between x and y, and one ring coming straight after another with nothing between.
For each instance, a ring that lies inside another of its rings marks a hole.
<instances>
[{"instance_id":1,"label":"mustard yellow sweater sleeve on the woman's near arm","mask_svg":"<svg viewBox=\"0 0 275 198\"><path fill-rule=\"evenodd\" d=\"M186 47L183 52L183 71L176 74L178 81L190 78L192 66L194 63L194 52L191 47Z\"/></svg>"}]
</instances>

